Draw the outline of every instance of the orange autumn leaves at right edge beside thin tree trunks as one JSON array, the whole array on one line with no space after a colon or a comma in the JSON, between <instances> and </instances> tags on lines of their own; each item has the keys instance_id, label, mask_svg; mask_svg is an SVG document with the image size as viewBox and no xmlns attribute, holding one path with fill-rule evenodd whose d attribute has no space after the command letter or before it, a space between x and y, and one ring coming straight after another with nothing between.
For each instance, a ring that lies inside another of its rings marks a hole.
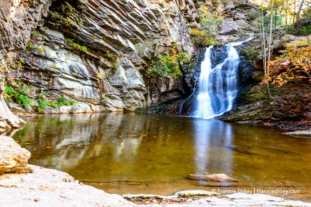
<instances>
[{"instance_id":1,"label":"orange autumn leaves at right edge beside thin tree trunks","mask_svg":"<svg viewBox=\"0 0 311 207\"><path fill-rule=\"evenodd\" d=\"M282 86L295 78L308 78L311 81L311 35L288 44L282 55L269 61L269 74L262 84L271 81Z\"/></svg>"}]
</instances>

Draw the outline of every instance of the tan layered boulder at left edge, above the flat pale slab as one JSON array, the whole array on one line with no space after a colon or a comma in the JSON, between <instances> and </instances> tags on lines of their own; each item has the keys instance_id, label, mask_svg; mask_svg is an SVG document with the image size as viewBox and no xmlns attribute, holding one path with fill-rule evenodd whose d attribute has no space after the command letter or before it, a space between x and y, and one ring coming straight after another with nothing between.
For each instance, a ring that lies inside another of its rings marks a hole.
<instances>
[{"instance_id":1,"label":"tan layered boulder at left edge, above the flat pale slab","mask_svg":"<svg viewBox=\"0 0 311 207\"><path fill-rule=\"evenodd\" d=\"M21 148L13 138L0 136L0 174L30 172L27 166L30 156L30 152Z\"/></svg>"}]
</instances>

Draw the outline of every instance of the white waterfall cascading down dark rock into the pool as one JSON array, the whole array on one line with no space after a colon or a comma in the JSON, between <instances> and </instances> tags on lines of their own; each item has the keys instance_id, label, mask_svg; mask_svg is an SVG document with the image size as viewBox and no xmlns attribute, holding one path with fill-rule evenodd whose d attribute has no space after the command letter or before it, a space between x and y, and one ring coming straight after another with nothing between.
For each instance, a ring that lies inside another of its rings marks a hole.
<instances>
[{"instance_id":1,"label":"white waterfall cascading down dark rock into the pool","mask_svg":"<svg viewBox=\"0 0 311 207\"><path fill-rule=\"evenodd\" d=\"M245 40L248 41L249 39ZM194 117L212 119L232 109L233 101L238 93L238 66L240 57L234 46L245 41L227 44L227 58L224 62L211 68L211 49L206 49L204 61L201 63L199 93ZM224 70L224 66L227 69Z\"/></svg>"}]
</instances>

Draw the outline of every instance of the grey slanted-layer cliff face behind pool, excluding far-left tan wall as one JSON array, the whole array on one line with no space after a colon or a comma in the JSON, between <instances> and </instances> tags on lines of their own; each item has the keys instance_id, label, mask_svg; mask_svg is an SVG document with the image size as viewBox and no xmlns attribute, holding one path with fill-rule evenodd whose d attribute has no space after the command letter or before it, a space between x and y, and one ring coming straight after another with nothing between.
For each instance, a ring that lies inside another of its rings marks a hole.
<instances>
[{"instance_id":1,"label":"grey slanted-layer cliff face behind pool, excluding far-left tan wall","mask_svg":"<svg viewBox=\"0 0 311 207\"><path fill-rule=\"evenodd\" d=\"M155 47L176 44L195 56L188 31L198 15L188 1L183 12L188 20L177 2L164 0L55 1L44 26L18 53L23 69L13 69L8 82L27 84L32 99L43 91L50 100L65 94L77 103L61 112L131 110L182 98L191 87L184 75L150 81L144 71Z\"/></svg>"}]
</instances>

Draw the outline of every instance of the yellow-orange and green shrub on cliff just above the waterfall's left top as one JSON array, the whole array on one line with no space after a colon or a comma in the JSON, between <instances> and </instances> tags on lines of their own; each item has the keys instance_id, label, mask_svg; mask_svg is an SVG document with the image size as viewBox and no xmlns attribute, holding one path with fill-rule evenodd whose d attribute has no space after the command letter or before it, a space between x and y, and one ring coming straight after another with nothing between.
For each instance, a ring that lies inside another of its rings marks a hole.
<instances>
[{"instance_id":1,"label":"yellow-orange and green shrub on cliff just above the waterfall's left top","mask_svg":"<svg viewBox=\"0 0 311 207\"><path fill-rule=\"evenodd\" d=\"M190 30L190 35L197 45L213 45L217 44L217 32L220 29L224 19L221 13L211 13L206 7L200 9L199 28Z\"/></svg>"}]
</instances>

